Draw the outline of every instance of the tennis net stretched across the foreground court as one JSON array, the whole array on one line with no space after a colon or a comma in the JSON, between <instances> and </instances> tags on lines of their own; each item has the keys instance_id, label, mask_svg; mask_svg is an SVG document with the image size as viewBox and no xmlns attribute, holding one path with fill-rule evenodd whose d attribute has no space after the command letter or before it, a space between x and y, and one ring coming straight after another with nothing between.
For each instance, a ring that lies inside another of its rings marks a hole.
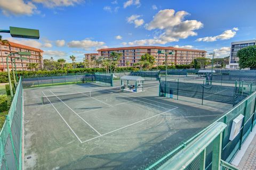
<instances>
[{"instance_id":1,"label":"tennis net stretched across the foreground court","mask_svg":"<svg viewBox=\"0 0 256 170\"><path fill-rule=\"evenodd\" d=\"M123 89L123 87L120 86L120 87L114 87L114 88L83 91L83 92L76 92L76 93L70 93L70 94L42 96L42 103L43 103L43 105L45 105L45 104L57 103L60 101L76 99L76 98L86 98L86 97L93 97L93 96L108 95L108 94L121 92L122 89Z\"/></svg>"}]
</instances>

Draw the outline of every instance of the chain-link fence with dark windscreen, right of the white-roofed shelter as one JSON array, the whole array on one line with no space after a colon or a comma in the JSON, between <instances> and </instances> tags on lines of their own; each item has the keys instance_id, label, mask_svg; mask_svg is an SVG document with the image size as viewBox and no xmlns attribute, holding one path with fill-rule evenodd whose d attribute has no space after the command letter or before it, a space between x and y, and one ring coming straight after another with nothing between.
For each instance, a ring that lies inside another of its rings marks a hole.
<instances>
[{"instance_id":1,"label":"chain-link fence with dark windscreen, right of the white-roofed shelter","mask_svg":"<svg viewBox=\"0 0 256 170\"><path fill-rule=\"evenodd\" d=\"M216 101L235 106L247 96L255 91L252 83L235 82L233 86L215 85L204 80L173 79L171 81L161 81L159 85L159 96L179 99L179 96ZM193 82L194 81L194 82ZM205 83L206 82L206 83Z\"/></svg>"}]
</instances>

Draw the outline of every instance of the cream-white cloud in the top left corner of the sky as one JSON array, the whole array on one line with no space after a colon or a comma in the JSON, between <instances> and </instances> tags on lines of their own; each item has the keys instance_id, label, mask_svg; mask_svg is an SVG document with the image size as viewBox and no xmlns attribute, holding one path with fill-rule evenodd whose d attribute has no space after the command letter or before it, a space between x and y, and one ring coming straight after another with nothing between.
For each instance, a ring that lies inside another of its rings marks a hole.
<instances>
[{"instance_id":1,"label":"cream-white cloud in the top left corner of the sky","mask_svg":"<svg viewBox=\"0 0 256 170\"><path fill-rule=\"evenodd\" d=\"M0 8L5 15L32 15L36 12L36 6L23 0L0 0Z\"/></svg>"}]
</instances>

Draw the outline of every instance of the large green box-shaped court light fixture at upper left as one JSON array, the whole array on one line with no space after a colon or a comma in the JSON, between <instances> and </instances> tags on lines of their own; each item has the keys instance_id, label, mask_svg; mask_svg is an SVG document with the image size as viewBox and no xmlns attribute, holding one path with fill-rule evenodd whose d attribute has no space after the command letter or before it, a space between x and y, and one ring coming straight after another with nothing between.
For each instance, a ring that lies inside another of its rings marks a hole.
<instances>
[{"instance_id":1,"label":"large green box-shaped court light fixture at upper left","mask_svg":"<svg viewBox=\"0 0 256 170\"><path fill-rule=\"evenodd\" d=\"M12 37L39 39L39 30L35 29L10 27L10 34Z\"/></svg>"}]
</instances>

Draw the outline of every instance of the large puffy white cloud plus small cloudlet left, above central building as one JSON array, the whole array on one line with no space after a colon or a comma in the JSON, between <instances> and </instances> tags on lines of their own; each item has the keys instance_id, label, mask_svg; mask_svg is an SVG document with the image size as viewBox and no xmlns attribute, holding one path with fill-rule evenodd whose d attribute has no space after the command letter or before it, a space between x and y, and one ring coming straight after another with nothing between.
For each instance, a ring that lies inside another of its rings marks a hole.
<instances>
[{"instance_id":1,"label":"large puffy white cloud plus small cloudlet left, above central building","mask_svg":"<svg viewBox=\"0 0 256 170\"><path fill-rule=\"evenodd\" d=\"M185 39L189 36L196 36L195 30L203 28L203 23L197 20L185 20L185 16L189 15L186 11L178 11L166 9L159 11L151 22L145 24L147 30L155 30L160 32L153 39L142 39L131 41L129 45L153 45L166 44L179 39ZM140 15L132 15L127 18L127 22L132 23L135 19L138 20Z\"/></svg>"}]
</instances>

